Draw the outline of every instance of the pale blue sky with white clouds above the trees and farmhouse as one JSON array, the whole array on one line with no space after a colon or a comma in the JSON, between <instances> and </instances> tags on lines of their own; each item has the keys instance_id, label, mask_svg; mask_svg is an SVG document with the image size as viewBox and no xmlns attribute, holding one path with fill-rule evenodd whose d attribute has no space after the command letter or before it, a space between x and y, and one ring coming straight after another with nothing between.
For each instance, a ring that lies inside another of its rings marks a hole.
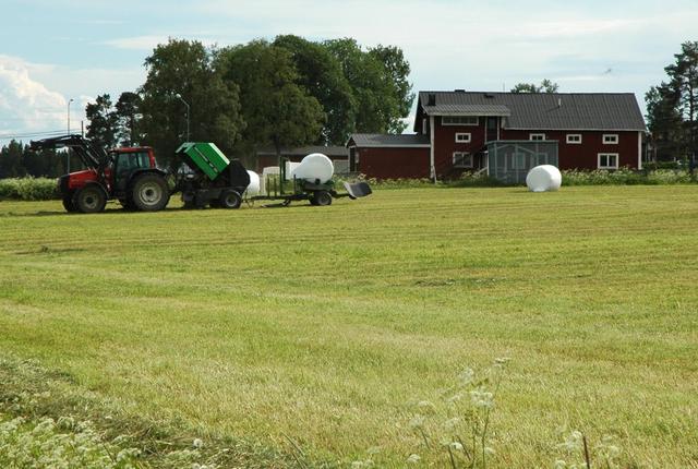
<instances>
[{"instance_id":1,"label":"pale blue sky with white clouds above the trees and farmhouse","mask_svg":"<svg viewBox=\"0 0 698 469\"><path fill-rule=\"evenodd\" d=\"M698 40L698 0L0 0L0 145L67 130L69 112L80 131L85 105L143 84L168 37L353 37L400 47L414 92L550 79L635 93L642 110L681 44Z\"/></svg>"}]
</instances>

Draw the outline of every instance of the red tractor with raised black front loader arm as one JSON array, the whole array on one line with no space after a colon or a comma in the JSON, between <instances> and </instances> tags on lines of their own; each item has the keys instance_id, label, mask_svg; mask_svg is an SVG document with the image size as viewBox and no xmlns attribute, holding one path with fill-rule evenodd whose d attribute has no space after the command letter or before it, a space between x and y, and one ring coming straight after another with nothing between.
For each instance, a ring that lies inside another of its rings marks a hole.
<instances>
[{"instance_id":1,"label":"red tractor with raised black front loader arm","mask_svg":"<svg viewBox=\"0 0 698 469\"><path fill-rule=\"evenodd\" d=\"M68 212L103 212L108 200L125 209L156 212L167 206L170 189L148 146L110 152L80 135L32 142L32 149L70 148L86 169L62 176L58 187Z\"/></svg>"}]
</instances>

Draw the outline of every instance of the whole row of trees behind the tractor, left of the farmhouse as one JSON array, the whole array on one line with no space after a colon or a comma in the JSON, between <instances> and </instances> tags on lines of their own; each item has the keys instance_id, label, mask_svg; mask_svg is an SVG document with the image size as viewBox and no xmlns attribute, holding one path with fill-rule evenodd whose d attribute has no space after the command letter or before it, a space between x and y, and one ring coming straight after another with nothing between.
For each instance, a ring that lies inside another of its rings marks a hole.
<instances>
[{"instance_id":1,"label":"whole row of trees behind the tractor, left of the farmhouse","mask_svg":"<svg viewBox=\"0 0 698 469\"><path fill-rule=\"evenodd\" d=\"M400 133L414 99L399 48L365 49L350 38L285 35L224 48L170 39L145 67L137 91L87 106L87 136L105 146L151 145L164 160L188 137L246 158L260 147L279 153L344 145L353 132Z\"/></svg>"}]
</instances>

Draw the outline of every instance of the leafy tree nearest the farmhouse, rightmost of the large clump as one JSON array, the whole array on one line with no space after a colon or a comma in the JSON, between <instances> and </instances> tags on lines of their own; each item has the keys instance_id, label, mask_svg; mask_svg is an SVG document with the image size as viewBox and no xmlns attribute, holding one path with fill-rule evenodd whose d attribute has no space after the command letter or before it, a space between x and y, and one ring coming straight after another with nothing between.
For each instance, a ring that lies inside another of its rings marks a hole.
<instances>
[{"instance_id":1,"label":"leafy tree nearest the farmhouse, rightmost of the large clump","mask_svg":"<svg viewBox=\"0 0 698 469\"><path fill-rule=\"evenodd\" d=\"M351 86L357 103L354 131L401 132L406 127L401 119L408 116L413 96L409 88L405 94L404 84L393 82L409 72L401 52L396 53L399 49L378 46L374 52L364 52L350 38L327 40L323 45L339 61Z\"/></svg>"}]
</instances>

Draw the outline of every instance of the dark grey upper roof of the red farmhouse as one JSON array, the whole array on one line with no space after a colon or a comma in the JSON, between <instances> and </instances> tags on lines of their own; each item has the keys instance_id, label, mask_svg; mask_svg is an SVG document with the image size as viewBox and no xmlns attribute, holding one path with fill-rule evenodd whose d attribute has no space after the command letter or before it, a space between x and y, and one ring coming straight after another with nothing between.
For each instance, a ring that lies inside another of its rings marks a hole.
<instances>
[{"instance_id":1,"label":"dark grey upper roof of the red farmhouse","mask_svg":"<svg viewBox=\"0 0 698 469\"><path fill-rule=\"evenodd\" d=\"M432 94L435 104L429 106ZM510 112L507 129L647 131L633 93L420 92L419 103L432 116L506 108Z\"/></svg>"}]
</instances>

